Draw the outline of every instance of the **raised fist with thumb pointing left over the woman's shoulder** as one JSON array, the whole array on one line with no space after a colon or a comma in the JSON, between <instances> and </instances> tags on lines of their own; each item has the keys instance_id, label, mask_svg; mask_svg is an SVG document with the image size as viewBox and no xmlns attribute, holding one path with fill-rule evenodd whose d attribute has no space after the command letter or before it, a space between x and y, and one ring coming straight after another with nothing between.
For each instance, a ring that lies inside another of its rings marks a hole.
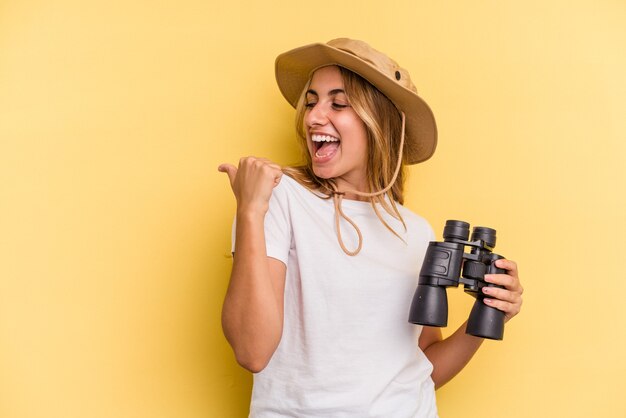
<instances>
[{"instance_id":1,"label":"raised fist with thumb pointing left over the woman's shoulder","mask_svg":"<svg viewBox=\"0 0 626 418\"><path fill-rule=\"evenodd\" d=\"M265 215L272 190L283 176L278 164L265 158L244 157L239 160L239 167L225 163L217 169L228 175L238 212Z\"/></svg>"}]
</instances>

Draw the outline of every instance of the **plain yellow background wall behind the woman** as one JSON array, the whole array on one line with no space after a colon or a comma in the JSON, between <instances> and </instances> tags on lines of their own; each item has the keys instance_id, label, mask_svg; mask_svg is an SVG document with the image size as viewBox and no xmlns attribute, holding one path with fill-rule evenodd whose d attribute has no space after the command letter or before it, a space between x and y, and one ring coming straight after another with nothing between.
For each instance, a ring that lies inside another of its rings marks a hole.
<instances>
[{"instance_id":1,"label":"plain yellow background wall behind the woman","mask_svg":"<svg viewBox=\"0 0 626 418\"><path fill-rule=\"evenodd\" d=\"M274 58L338 36L435 112L407 206L520 264L521 315L441 416L626 416L625 22L621 0L0 1L0 417L246 416L216 167L296 161ZM472 303L448 293L446 333Z\"/></svg>"}]
</instances>

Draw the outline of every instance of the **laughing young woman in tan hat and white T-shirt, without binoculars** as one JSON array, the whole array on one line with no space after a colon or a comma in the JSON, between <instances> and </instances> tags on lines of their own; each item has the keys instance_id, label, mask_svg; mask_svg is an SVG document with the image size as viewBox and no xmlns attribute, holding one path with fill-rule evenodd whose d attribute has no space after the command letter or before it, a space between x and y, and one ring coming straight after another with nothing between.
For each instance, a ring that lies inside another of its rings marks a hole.
<instances>
[{"instance_id":1,"label":"laughing young woman in tan hat and white T-shirt, without binoculars","mask_svg":"<svg viewBox=\"0 0 626 418\"><path fill-rule=\"evenodd\" d=\"M276 60L305 163L222 164L237 199L223 327L253 372L251 417L433 417L434 391L482 339L465 324L407 321L428 223L403 203L403 166L435 150L409 74L364 42L336 39ZM286 174L286 175L284 175ZM485 303L515 316L517 267L486 276Z\"/></svg>"}]
</instances>

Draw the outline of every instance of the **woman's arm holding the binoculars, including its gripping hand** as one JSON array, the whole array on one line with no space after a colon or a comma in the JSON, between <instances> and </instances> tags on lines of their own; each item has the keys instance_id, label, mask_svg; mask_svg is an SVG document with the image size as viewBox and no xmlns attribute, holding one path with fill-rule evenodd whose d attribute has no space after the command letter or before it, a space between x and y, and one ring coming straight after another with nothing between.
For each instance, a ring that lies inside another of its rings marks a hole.
<instances>
[{"instance_id":1,"label":"woman's arm holding the binoculars, including its gripping hand","mask_svg":"<svg viewBox=\"0 0 626 418\"><path fill-rule=\"evenodd\" d=\"M520 284L515 262L498 260L496 265L506 269L508 273L486 275L485 281L505 288L484 287L483 291L490 296L485 298L485 303L504 311L507 322L519 313L524 289ZM419 347L433 365L432 379L437 389L463 370L483 342L482 338L467 335L466 326L467 322L445 340L442 339L439 328L424 327L422 330Z\"/></svg>"}]
</instances>

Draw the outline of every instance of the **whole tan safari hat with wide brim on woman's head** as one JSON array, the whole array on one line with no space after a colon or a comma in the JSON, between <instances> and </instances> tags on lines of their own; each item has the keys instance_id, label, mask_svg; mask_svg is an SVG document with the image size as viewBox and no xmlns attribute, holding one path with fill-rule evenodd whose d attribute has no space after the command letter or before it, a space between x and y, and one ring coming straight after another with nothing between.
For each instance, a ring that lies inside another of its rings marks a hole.
<instances>
[{"instance_id":1,"label":"whole tan safari hat with wide brim on woman's head","mask_svg":"<svg viewBox=\"0 0 626 418\"><path fill-rule=\"evenodd\" d=\"M292 49L276 58L276 81L287 101L296 107L313 72L327 65L339 65L355 72L380 90L406 116L407 162L429 159L437 146L435 117L409 73L387 55L363 41L338 38Z\"/></svg>"}]
</instances>

